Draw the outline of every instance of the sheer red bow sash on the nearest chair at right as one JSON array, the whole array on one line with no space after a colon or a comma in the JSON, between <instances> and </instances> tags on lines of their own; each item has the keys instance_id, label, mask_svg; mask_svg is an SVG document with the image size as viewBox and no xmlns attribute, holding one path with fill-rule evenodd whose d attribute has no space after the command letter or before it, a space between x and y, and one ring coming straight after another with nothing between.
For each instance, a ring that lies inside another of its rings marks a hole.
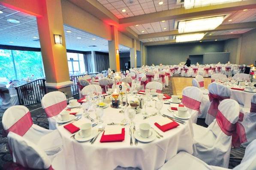
<instances>
[{"instance_id":1,"label":"sheer red bow sash on the nearest chair at right","mask_svg":"<svg viewBox=\"0 0 256 170\"><path fill-rule=\"evenodd\" d=\"M216 120L221 131L228 136L232 136L232 146L240 147L241 143L247 141L244 126L241 123L230 123L219 110L217 111Z\"/></svg>"}]
</instances>

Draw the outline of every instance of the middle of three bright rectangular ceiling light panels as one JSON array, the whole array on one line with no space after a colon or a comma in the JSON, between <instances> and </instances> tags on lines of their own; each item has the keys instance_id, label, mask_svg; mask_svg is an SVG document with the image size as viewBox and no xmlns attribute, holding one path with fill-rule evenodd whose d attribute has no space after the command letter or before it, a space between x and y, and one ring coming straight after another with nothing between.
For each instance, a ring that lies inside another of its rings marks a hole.
<instances>
[{"instance_id":1,"label":"middle of three bright rectangular ceiling light panels","mask_svg":"<svg viewBox=\"0 0 256 170\"><path fill-rule=\"evenodd\" d=\"M224 16L181 21L178 24L178 32L184 33L213 30L217 28L223 20Z\"/></svg>"}]
</instances>

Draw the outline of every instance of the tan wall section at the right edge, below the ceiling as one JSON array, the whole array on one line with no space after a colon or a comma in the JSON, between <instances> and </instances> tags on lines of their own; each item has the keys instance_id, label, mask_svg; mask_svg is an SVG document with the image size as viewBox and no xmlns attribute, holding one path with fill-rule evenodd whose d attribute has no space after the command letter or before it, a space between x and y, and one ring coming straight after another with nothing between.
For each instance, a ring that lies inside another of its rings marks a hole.
<instances>
[{"instance_id":1,"label":"tan wall section at the right edge, below the ceiling","mask_svg":"<svg viewBox=\"0 0 256 170\"><path fill-rule=\"evenodd\" d=\"M254 64L256 61L256 29L243 34L240 64Z\"/></svg>"}]
</instances>

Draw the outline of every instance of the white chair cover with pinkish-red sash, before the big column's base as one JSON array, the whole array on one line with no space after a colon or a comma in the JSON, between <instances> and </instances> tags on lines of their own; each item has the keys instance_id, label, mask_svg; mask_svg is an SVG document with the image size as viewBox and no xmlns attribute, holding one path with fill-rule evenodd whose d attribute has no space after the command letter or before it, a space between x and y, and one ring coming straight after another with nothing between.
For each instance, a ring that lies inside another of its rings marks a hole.
<instances>
[{"instance_id":1,"label":"white chair cover with pinkish-red sash, before the big column's base","mask_svg":"<svg viewBox=\"0 0 256 170\"><path fill-rule=\"evenodd\" d=\"M42 108L49 121L49 129L54 130L56 128L56 118L60 112L66 108L66 95L60 91L52 91L45 94L41 100Z\"/></svg>"}]
</instances>

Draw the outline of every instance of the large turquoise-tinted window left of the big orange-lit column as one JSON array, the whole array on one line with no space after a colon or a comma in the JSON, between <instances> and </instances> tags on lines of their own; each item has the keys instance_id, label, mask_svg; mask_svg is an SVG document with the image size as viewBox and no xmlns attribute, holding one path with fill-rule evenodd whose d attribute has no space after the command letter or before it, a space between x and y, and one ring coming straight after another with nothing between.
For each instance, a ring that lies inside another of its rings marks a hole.
<instances>
[{"instance_id":1,"label":"large turquoise-tinted window left of the big orange-lit column","mask_svg":"<svg viewBox=\"0 0 256 170\"><path fill-rule=\"evenodd\" d=\"M8 81L44 77L41 52L0 50L0 77Z\"/></svg>"}]
</instances>

